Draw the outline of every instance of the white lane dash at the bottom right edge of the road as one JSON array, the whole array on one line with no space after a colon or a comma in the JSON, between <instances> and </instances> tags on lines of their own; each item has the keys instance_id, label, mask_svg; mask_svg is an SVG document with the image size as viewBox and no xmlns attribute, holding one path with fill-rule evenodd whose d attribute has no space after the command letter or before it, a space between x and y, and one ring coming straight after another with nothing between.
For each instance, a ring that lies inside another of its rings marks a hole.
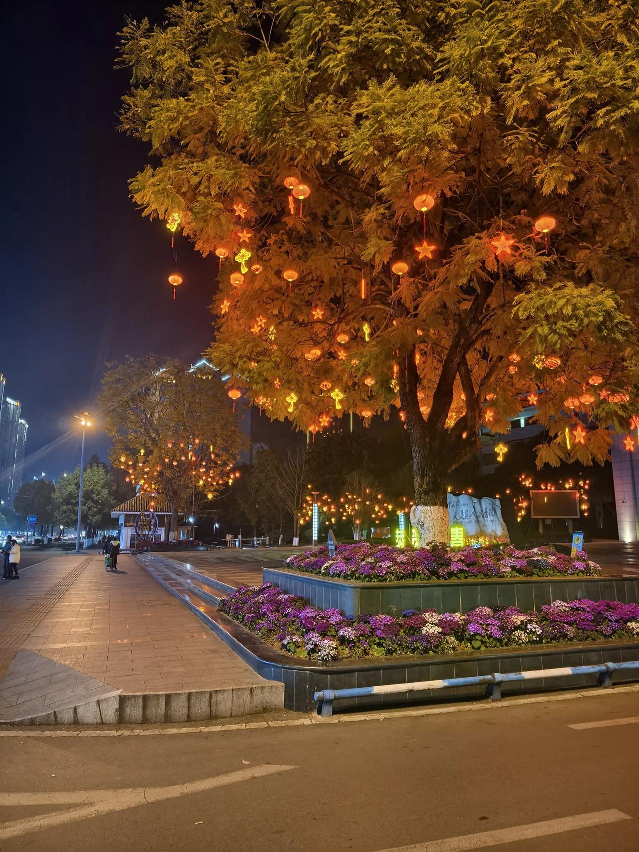
<instances>
[{"instance_id":1,"label":"white lane dash at the bottom right edge of the road","mask_svg":"<svg viewBox=\"0 0 639 852\"><path fill-rule=\"evenodd\" d=\"M498 846L501 843L545 838L550 834L573 832L578 828L606 826L611 822L631 819L631 816L624 814L621 810L596 810L591 814L562 816L559 820L531 822L527 826L498 828L492 832L464 834L459 838L427 840L426 843L415 843L413 846L396 846L393 849L385 849L384 852L464 852L465 849L486 849L487 846Z\"/></svg>"}]
</instances>

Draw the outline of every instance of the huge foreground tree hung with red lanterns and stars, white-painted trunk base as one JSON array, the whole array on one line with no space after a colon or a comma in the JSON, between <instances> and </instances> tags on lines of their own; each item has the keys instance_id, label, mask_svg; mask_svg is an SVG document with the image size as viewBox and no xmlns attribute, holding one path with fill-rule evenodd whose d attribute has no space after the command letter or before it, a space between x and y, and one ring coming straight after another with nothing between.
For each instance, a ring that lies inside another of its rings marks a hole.
<instances>
[{"instance_id":1,"label":"huge foreground tree hung with red lanterns and stars, white-painted trunk base","mask_svg":"<svg viewBox=\"0 0 639 852\"><path fill-rule=\"evenodd\" d=\"M211 359L314 434L399 409L424 542L482 424L538 405L538 463L591 463L637 412L637 49L627 0L215 0L122 34L131 192L219 268Z\"/></svg>"}]
</instances>

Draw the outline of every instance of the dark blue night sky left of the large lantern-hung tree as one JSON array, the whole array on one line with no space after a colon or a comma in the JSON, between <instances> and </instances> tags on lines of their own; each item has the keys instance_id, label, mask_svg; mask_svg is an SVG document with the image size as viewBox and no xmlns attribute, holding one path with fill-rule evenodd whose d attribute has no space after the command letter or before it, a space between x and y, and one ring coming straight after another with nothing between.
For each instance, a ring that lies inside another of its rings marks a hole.
<instances>
[{"instance_id":1,"label":"dark blue night sky left of the large lantern-hung tree","mask_svg":"<svg viewBox=\"0 0 639 852\"><path fill-rule=\"evenodd\" d=\"M164 223L127 181L147 156L119 133L127 72L114 70L126 15L165 3L36 3L3 11L3 285L0 372L29 423L25 479L79 463L74 412L91 410L106 361L157 352L194 361L210 343L216 258L182 241L184 284ZM99 429L87 452L106 458Z\"/></svg>"}]
</instances>

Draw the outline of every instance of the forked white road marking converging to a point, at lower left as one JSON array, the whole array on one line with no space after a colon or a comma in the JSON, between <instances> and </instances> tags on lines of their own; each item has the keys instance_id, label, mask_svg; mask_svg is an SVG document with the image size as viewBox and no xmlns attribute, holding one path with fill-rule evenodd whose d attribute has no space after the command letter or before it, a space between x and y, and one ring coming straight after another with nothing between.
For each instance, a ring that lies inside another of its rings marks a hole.
<instances>
[{"instance_id":1,"label":"forked white road marking converging to a point, at lower left","mask_svg":"<svg viewBox=\"0 0 639 852\"><path fill-rule=\"evenodd\" d=\"M0 793L0 805L64 805L78 804L80 807L59 811L55 814L29 816L23 820L13 820L0 825L0 840L20 838L24 834L42 832L46 828L64 826L68 822L87 820L93 816L112 814L115 811L137 808L141 804L163 802L166 799L188 796L212 790L215 787L237 784L251 778L263 778L296 769L294 766L262 765L250 769L239 769L215 778L190 781L188 784L175 784L168 787L126 787L119 790L78 790L58 793Z\"/></svg>"}]
</instances>

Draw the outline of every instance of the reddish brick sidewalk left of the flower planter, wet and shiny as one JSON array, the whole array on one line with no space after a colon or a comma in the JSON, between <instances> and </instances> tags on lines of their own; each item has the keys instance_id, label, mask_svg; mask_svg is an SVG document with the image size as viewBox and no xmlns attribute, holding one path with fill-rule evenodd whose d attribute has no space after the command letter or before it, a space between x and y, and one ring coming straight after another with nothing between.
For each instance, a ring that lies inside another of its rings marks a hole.
<instances>
[{"instance_id":1,"label":"reddish brick sidewalk left of the flower planter, wet and shiny","mask_svg":"<svg viewBox=\"0 0 639 852\"><path fill-rule=\"evenodd\" d=\"M249 687L264 681L126 554L118 573L101 556L55 557L20 573L2 595L2 634L17 635L28 607L74 567L89 564L21 648L127 693Z\"/></svg>"}]
</instances>

